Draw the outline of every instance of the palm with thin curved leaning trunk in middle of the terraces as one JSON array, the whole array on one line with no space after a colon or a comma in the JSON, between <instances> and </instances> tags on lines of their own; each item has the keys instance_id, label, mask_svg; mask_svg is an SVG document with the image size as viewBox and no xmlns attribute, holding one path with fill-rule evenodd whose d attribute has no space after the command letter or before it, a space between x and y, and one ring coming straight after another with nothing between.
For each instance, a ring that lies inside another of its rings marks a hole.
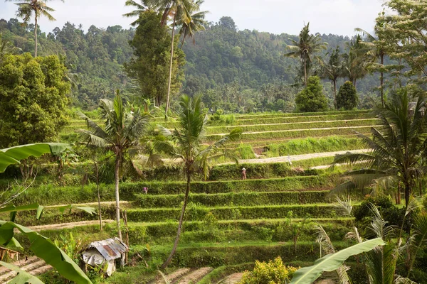
<instances>
[{"instance_id":1,"label":"palm with thin curved leaning trunk in middle of the terraces","mask_svg":"<svg viewBox=\"0 0 427 284\"><path fill-rule=\"evenodd\" d=\"M194 98L183 96L181 97L179 105L181 107L181 111L179 111L178 114L179 128L169 131L161 127L163 135L170 139L169 141L157 141L156 143L156 148L159 149L159 151L163 151L172 155L174 158L182 160L187 181L174 247L167 261L163 263L162 268L167 267L172 261L172 257L178 246L191 187L191 176L201 171L206 178L209 175L209 160L221 155L229 156L230 153L223 148L223 145L228 141L236 141L236 139L241 137L242 133L241 129L233 129L227 136L206 146L206 144L203 143L203 139L206 133L208 118L204 114L201 106L201 96L196 96Z\"/></svg>"}]
</instances>

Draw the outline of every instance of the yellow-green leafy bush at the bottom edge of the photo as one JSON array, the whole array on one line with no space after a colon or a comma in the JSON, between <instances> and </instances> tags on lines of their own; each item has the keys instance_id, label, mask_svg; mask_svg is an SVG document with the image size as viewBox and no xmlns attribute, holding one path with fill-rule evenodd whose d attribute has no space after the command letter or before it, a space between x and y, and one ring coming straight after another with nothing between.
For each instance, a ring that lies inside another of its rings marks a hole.
<instances>
[{"instance_id":1,"label":"yellow-green leafy bush at the bottom edge of the photo","mask_svg":"<svg viewBox=\"0 0 427 284\"><path fill-rule=\"evenodd\" d=\"M268 263L255 261L253 271L246 271L239 284L288 284L297 268L285 266L278 256Z\"/></svg>"}]
</instances>

